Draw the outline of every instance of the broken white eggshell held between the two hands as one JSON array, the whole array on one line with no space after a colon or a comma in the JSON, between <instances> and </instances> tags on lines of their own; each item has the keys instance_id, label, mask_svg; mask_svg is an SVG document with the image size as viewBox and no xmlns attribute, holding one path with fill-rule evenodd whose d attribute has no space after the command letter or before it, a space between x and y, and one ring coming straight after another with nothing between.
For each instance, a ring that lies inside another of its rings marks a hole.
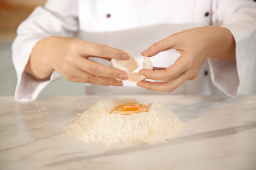
<instances>
[{"instance_id":1,"label":"broken white eggshell held between the two hands","mask_svg":"<svg viewBox=\"0 0 256 170\"><path fill-rule=\"evenodd\" d=\"M120 61L117 59L112 59L110 61L110 67L115 69L123 70L129 76L128 80L131 82L139 82L146 79L146 76L142 76L139 73L133 73L135 69L139 68L139 65L135 58L127 52L128 56L130 57L129 60ZM144 61L142 63L143 69L153 69L152 61L148 57L144 57Z\"/></svg>"}]
</instances>

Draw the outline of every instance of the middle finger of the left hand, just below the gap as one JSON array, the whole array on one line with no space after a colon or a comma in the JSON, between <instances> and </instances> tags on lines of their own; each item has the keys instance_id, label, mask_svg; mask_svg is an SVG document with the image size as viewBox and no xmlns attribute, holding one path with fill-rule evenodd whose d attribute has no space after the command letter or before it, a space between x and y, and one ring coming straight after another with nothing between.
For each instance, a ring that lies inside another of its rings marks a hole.
<instances>
[{"instance_id":1,"label":"middle finger of the left hand, just below the gap","mask_svg":"<svg viewBox=\"0 0 256 170\"><path fill-rule=\"evenodd\" d=\"M75 64L80 69L87 71L92 75L104 76L108 78L117 78L122 80L126 80L129 78L127 73L125 73L125 71L121 71L119 69L114 69L106 65L102 65L91 59L77 58L77 60L75 61Z\"/></svg>"}]
</instances>

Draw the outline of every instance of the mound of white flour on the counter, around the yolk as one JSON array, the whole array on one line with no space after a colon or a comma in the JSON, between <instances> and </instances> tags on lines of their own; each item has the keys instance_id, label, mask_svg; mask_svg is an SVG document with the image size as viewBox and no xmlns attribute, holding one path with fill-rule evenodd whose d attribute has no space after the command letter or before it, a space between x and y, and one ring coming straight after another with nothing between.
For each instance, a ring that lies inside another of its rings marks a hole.
<instances>
[{"instance_id":1,"label":"mound of white flour on the counter, around the yolk","mask_svg":"<svg viewBox=\"0 0 256 170\"><path fill-rule=\"evenodd\" d=\"M91 143L156 144L173 138L186 126L174 112L157 103L150 103L148 112L139 114L109 113L118 105L135 102L130 98L98 101L70 120L64 131L70 137Z\"/></svg>"}]
</instances>

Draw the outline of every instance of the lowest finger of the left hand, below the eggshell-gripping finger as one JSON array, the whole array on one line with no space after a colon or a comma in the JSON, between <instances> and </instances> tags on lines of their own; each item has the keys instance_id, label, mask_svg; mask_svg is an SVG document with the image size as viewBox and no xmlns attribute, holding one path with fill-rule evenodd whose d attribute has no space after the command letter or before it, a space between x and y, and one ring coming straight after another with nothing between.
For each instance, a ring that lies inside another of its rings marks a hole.
<instances>
[{"instance_id":1,"label":"lowest finger of the left hand, below the eggshell-gripping finger","mask_svg":"<svg viewBox=\"0 0 256 170\"><path fill-rule=\"evenodd\" d=\"M72 72L72 75L66 75L65 77L72 82L83 82L87 84L98 84L104 86L123 86L123 82L120 80L103 76L95 76L83 71L82 69L75 69L75 71Z\"/></svg>"}]
</instances>

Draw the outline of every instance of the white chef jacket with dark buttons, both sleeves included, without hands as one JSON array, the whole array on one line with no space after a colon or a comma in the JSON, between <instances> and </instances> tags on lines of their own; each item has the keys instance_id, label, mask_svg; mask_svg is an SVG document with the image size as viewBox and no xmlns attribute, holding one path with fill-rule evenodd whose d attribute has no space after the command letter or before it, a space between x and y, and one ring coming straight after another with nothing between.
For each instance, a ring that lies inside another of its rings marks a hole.
<instances>
[{"instance_id":1,"label":"white chef jacket with dark buttons, both sleeves included, without hands","mask_svg":"<svg viewBox=\"0 0 256 170\"><path fill-rule=\"evenodd\" d=\"M236 96L256 63L256 3L253 0L49 0L37 7L18 27L12 59L18 83L15 99L32 101L51 81L24 73L35 43L49 36L79 37L130 52L142 63L140 52L154 42L192 27L227 27L236 41L236 63L209 58L196 80L188 80L172 93ZM200 46L198 46L200 48ZM168 67L180 56L175 50L150 58L156 67ZM96 59L108 65L108 61ZM124 81L123 87L87 85L89 94L150 94L154 92ZM168 93L169 94L169 93Z\"/></svg>"}]
</instances>

